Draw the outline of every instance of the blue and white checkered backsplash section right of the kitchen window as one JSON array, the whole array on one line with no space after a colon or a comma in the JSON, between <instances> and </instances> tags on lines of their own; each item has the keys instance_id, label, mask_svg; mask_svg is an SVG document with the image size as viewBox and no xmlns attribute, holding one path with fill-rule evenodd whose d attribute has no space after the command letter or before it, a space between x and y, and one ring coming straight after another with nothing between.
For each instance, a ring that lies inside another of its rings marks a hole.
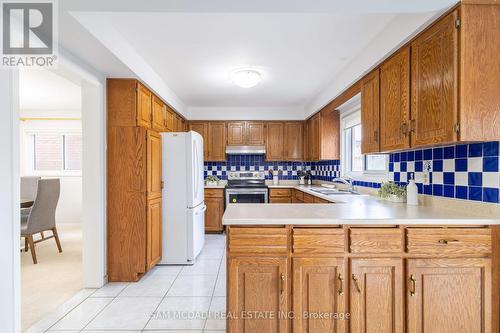
<instances>
[{"instance_id":1,"label":"blue and white checkered backsplash section right of the kitchen window","mask_svg":"<svg viewBox=\"0 0 500 333\"><path fill-rule=\"evenodd\" d=\"M390 154L389 180L415 177L419 193L500 203L499 142L459 144ZM423 185L424 170L429 185Z\"/></svg>"}]
</instances>

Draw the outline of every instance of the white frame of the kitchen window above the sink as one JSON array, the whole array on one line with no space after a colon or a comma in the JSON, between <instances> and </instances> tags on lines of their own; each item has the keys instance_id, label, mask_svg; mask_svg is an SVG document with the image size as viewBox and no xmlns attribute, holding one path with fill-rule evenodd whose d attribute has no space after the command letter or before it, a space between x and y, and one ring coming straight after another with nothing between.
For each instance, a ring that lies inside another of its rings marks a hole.
<instances>
[{"instance_id":1,"label":"white frame of the kitchen window above the sink","mask_svg":"<svg viewBox=\"0 0 500 333\"><path fill-rule=\"evenodd\" d=\"M347 143L345 130L361 124L361 106L356 105L353 108L342 112L340 115L340 174L342 177L350 177L360 181L370 182L385 182L389 179L389 154L362 154L363 156L363 170L361 172L353 172L350 170L352 161L351 150L348 146L351 142ZM368 155L385 155L386 168L384 171L366 170L366 158Z\"/></svg>"}]
</instances>

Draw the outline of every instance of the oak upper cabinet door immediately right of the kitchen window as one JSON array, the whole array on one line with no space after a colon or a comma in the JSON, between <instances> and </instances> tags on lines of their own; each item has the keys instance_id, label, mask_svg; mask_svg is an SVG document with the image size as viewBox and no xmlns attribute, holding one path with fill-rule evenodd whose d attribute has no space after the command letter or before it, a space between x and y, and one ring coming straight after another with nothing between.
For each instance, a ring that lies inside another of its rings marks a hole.
<instances>
[{"instance_id":1,"label":"oak upper cabinet door immediately right of the kitchen window","mask_svg":"<svg viewBox=\"0 0 500 333\"><path fill-rule=\"evenodd\" d=\"M361 152L380 151L379 69L361 82Z\"/></svg>"}]
</instances>

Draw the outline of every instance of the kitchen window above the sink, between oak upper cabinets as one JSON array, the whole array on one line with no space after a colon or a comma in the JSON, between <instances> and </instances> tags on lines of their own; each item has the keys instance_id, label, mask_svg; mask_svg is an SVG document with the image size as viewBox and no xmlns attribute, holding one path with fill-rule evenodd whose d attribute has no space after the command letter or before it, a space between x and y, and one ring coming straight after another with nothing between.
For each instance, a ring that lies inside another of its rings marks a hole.
<instances>
[{"instance_id":1,"label":"kitchen window above the sink, between oak upper cabinets","mask_svg":"<svg viewBox=\"0 0 500 333\"><path fill-rule=\"evenodd\" d=\"M361 154L361 112L359 107L341 120L342 173L355 179L386 180L386 154Z\"/></svg>"}]
</instances>

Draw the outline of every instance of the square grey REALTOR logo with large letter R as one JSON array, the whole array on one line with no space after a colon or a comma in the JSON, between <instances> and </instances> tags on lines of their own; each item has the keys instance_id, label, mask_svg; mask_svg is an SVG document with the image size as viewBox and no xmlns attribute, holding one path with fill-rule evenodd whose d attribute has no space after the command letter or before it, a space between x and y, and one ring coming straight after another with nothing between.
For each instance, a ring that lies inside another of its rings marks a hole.
<instances>
[{"instance_id":1,"label":"square grey REALTOR logo with large letter R","mask_svg":"<svg viewBox=\"0 0 500 333\"><path fill-rule=\"evenodd\" d=\"M2 2L2 67L54 67L55 2Z\"/></svg>"}]
</instances>

